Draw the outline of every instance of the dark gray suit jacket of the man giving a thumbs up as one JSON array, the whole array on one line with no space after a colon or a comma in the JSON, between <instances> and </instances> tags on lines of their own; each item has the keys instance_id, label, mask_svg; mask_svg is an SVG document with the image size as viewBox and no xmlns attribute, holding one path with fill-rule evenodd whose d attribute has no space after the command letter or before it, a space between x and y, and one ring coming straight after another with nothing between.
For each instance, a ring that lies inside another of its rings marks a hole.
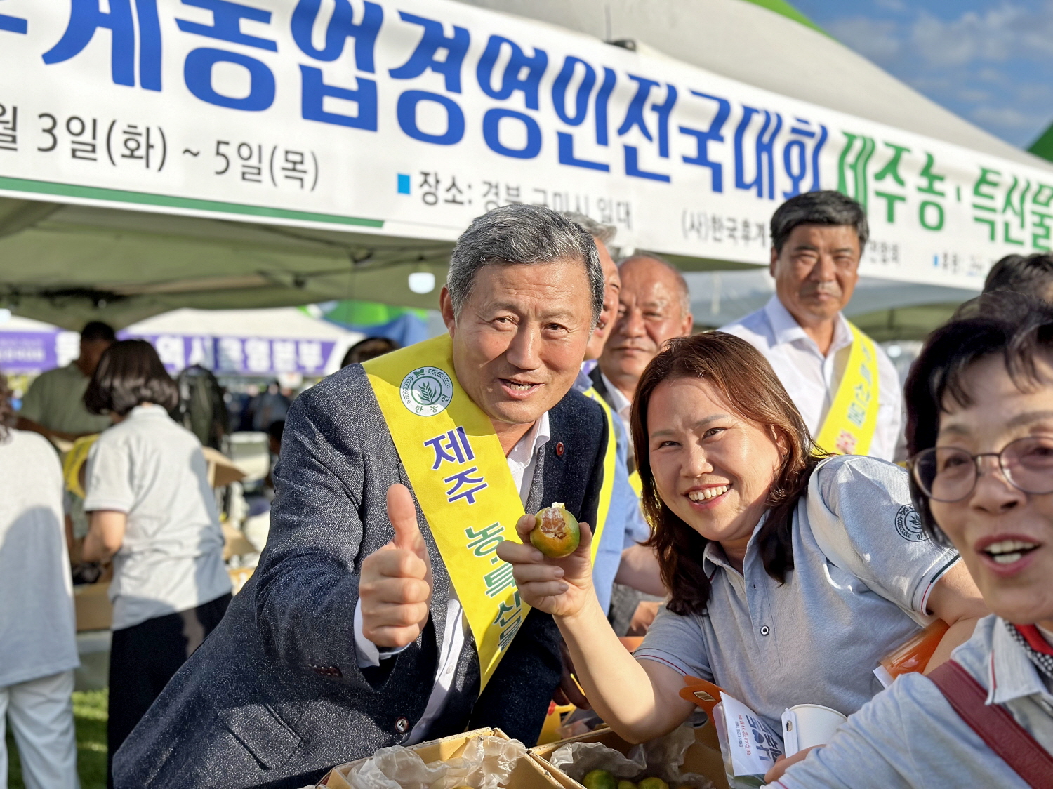
<instances>
[{"instance_id":1,"label":"dark gray suit jacket of the man giving a thumbs up","mask_svg":"<svg viewBox=\"0 0 1053 789\"><path fill-rule=\"evenodd\" d=\"M607 421L570 392L551 412L528 501L595 522ZM286 420L271 534L256 573L114 757L118 789L298 788L333 765L403 743L434 684L451 581L428 521L432 617L416 644L359 669L362 559L389 543L389 486L410 480L358 364L307 390ZM532 610L479 695L468 639L435 736L500 727L533 745L562 663L552 617Z\"/></svg>"}]
</instances>

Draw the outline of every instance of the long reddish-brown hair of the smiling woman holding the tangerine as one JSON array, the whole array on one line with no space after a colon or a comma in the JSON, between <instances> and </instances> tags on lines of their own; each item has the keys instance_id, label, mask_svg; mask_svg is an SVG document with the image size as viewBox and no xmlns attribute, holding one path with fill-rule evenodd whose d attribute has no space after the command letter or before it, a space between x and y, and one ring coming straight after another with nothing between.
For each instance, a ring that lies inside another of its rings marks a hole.
<instances>
[{"instance_id":1,"label":"long reddish-brown hair of the smiling woman holding the tangerine","mask_svg":"<svg viewBox=\"0 0 1053 789\"><path fill-rule=\"evenodd\" d=\"M723 332L679 337L651 360L637 384L632 415L643 513L654 529L645 545L654 548L662 581L672 593L669 609L700 614L710 597L710 579L702 569L709 540L665 506L651 471L648 406L658 384L675 378L707 381L739 417L782 437L788 452L768 492L768 517L756 540L764 570L780 584L793 569L793 510L821 457L768 359L746 340Z\"/></svg>"}]
</instances>

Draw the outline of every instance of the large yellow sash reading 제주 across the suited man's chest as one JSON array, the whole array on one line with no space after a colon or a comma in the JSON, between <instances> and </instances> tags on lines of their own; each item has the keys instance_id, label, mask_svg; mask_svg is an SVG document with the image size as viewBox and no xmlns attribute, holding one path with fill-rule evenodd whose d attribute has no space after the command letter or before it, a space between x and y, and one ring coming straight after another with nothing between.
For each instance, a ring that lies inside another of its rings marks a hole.
<instances>
[{"instance_id":1,"label":"large yellow sash reading \uc81c\uc8fc across the suited man's chest","mask_svg":"<svg viewBox=\"0 0 1053 789\"><path fill-rule=\"evenodd\" d=\"M512 566L496 554L498 544L518 539L519 491L493 423L457 380L448 335L362 367L475 635L481 691L530 610ZM611 501L613 440L608 455L593 558Z\"/></svg>"}]
</instances>

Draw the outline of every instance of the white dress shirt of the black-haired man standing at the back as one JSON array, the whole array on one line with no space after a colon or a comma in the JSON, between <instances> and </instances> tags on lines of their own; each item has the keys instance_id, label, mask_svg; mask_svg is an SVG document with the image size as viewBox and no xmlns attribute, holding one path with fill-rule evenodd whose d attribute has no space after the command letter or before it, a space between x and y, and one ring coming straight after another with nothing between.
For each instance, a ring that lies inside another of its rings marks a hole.
<instances>
[{"instance_id":1,"label":"white dress shirt of the black-haired man standing at the back","mask_svg":"<svg viewBox=\"0 0 1053 789\"><path fill-rule=\"evenodd\" d=\"M827 417L852 348L852 330L840 313L834 321L834 341L826 356L819 351L777 295L755 313L721 332L741 337L764 355L786 387L804 423L815 437ZM899 376L880 346L877 349L877 430L868 454L892 460L902 423Z\"/></svg>"}]
</instances>

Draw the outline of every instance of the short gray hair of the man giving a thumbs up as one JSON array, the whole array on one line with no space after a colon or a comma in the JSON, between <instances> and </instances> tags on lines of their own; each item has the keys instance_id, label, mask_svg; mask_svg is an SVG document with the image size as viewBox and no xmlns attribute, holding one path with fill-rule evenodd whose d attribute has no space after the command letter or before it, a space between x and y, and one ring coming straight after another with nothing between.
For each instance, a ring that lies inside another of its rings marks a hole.
<instances>
[{"instance_id":1,"label":"short gray hair of the man giving a thumbs up","mask_svg":"<svg viewBox=\"0 0 1053 789\"><path fill-rule=\"evenodd\" d=\"M457 239L446 273L454 315L460 315L472 295L476 272L482 267L554 260L576 260L584 265L595 326L603 309L603 270L593 237L551 209L522 203L502 205L476 217Z\"/></svg>"}]
</instances>

